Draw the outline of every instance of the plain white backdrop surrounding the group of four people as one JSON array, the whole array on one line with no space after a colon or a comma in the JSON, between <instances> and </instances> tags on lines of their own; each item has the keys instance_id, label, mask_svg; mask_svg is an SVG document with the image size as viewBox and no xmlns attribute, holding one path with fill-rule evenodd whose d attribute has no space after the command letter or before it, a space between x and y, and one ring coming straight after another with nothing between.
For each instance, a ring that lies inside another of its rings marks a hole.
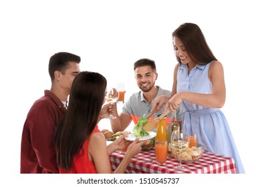
<instances>
[{"instance_id":1,"label":"plain white backdrop surrounding the group of four people","mask_svg":"<svg viewBox=\"0 0 256 187\"><path fill-rule=\"evenodd\" d=\"M253 1L225 2L1 1L0 137L5 179L23 181L21 132L29 108L50 88L51 55L59 51L80 55L82 70L98 71L110 83L126 83L126 97L138 91L133 63L148 57L156 61L157 84L171 89L176 64L171 34L184 22L201 27L223 63L227 87L223 112L245 171L253 174L256 13Z\"/></svg>"}]
</instances>

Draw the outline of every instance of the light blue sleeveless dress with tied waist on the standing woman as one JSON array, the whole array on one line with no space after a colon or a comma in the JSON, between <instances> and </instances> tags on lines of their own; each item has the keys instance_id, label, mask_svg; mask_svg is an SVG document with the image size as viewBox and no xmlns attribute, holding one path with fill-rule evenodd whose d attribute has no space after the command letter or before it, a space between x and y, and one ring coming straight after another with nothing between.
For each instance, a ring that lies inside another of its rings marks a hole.
<instances>
[{"instance_id":1,"label":"light blue sleeveless dress with tied waist on the standing woman","mask_svg":"<svg viewBox=\"0 0 256 187\"><path fill-rule=\"evenodd\" d=\"M180 64L177 72L177 92L211 93L212 83L208 77L210 65L211 63L196 65L188 74L187 65ZM205 145L206 151L233 158L237 172L245 173L223 112L218 108L205 108L186 101L182 101L182 106L186 110L182 129L196 131L198 142Z\"/></svg>"}]
</instances>

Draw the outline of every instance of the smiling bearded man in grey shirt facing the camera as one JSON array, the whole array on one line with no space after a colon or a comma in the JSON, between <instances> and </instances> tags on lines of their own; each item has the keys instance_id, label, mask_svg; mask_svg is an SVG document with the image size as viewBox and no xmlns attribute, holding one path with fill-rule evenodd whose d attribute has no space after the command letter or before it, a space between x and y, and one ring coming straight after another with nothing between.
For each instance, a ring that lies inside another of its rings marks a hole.
<instances>
[{"instance_id":1,"label":"smiling bearded man in grey shirt facing the camera","mask_svg":"<svg viewBox=\"0 0 256 187\"><path fill-rule=\"evenodd\" d=\"M132 96L126 101L122 112L118 115L116 104L112 108L112 115L116 116L115 120L110 120L113 132L125 130L130 123L138 123L138 120L144 114L148 115L152 109L152 100L158 96L170 96L170 91L162 89L160 86L155 85L158 73L156 73L156 64L152 59L139 59L134 63L134 76L136 83L140 88L138 93L133 93ZM163 110L156 112L150 120L157 118L162 114ZM178 108L177 120L182 120L184 110ZM166 117L166 126L170 123L171 114Z\"/></svg>"}]
</instances>

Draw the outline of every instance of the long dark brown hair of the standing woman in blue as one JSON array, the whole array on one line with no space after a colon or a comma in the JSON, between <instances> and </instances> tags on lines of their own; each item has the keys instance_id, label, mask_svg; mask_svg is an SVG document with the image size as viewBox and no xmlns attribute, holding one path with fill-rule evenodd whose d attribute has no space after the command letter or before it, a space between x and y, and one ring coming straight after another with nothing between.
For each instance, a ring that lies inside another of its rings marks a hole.
<instances>
[{"instance_id":1,"label":"long dark brown hair of the standing woman in blue","mask_svg":"<svg viewBox=\"0 0 256 187\"><path fill-rule=\"evenodd\" d=\"M183 23L172 33L172 39L174 37L180 39L192 61L205 65L217 60L208 46L203 32L195 23ZM177 55L176 59L181 63Z\"/></svg>"}]
</instances>

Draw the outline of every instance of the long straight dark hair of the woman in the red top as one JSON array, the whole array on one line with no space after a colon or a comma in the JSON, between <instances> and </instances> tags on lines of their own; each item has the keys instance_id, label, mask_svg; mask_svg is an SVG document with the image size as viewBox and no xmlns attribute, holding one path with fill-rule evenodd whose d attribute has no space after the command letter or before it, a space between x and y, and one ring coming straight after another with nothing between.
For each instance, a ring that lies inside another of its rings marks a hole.
<instances>
[{"instance_id":1,"label":"long straight dark hair of the woman in the red top","mask_svg":"<svg viewBox=\"0 0 256 187\"><path fill-rule=\"evenodd\" d=\"M57 165L62 170L72 168L74 156L94 130L104 102L106 85L106 78L100 73L82 71L76 75L68 110L55 134Z\"/></svg>"}]
</instances>

